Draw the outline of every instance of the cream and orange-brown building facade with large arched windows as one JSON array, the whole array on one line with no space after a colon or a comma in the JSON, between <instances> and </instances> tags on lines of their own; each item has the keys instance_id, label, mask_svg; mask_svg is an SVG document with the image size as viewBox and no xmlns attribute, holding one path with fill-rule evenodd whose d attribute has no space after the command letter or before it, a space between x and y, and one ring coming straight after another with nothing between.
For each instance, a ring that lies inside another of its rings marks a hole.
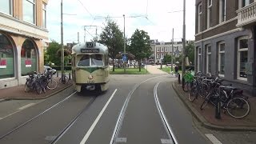
<instances>
[{"instance_id":1,"label":"cream and orange-brown building facade with large arched windows","mask_svg":"<svg viewBox=\"0 0 256 144\"><path fill-rule=\"evenodd\" d=\"M22 85L42 71L48 0L0 1L0 89Z\"/></svg>"}]
</instances>

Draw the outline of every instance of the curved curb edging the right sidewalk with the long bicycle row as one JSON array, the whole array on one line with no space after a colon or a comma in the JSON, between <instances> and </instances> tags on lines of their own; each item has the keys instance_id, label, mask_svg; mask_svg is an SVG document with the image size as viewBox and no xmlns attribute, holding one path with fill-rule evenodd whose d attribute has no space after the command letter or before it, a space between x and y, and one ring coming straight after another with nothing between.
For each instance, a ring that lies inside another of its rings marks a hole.
<instances>
[{"instance_id":1,"label":"curved curb edging the right sidewalk with the long bicycle row","mask_svg":"<svg viewBox=\"0 0 256 144\"><path fill-rule=\"evenodd\" d=\"M191 106L190 102L188 102L188 100L185 99L186 96L178 92L174 82L172 82L172 87L175 93L178 95L178 97L182 100L186 108L190 110L190 113L194 116L194 118L196 118L198 122L201 122L202 126L206 127L207 129L222 131L256 131L255 126L218 126L208 122L206 118L203 118L203 116L198 113L198 110L195 110L194 107Z\"/></svg>"}]
</instances>

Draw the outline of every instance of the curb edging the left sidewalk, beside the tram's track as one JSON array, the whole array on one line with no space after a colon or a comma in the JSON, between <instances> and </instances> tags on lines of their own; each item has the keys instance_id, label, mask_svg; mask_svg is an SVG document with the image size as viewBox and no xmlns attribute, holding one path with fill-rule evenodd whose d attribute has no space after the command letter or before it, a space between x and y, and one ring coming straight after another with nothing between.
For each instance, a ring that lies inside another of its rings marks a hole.
<instances>
[{"instance_id":1,"label":"curb edging the left sidewalk, beside the tram's track","mask_svg":"<svg viewBox=\"0 0 256 144\"><path fill-rule=\"evenodd\" d=\"M48 95L46 95L45 97L40 97L40 98L5 98L5 99L0 99L0 102L3 102L3 101L10 101L10 100L33 100L33 99L44 99L44 98L49 98L49 97L51 97L51 96L53 96L54 94L58 94L60 91L62 91L62 90L66 90L67 88L69 88L70 86L72 86L72 84L69 84L69 85L67 85L67 86L64 86L64 87L62 87L62 89L59 89L59 90L57 90L57 91L54 91L53 93L50 93L50 94L48 94Z\"/></svg>"}]
</instances>

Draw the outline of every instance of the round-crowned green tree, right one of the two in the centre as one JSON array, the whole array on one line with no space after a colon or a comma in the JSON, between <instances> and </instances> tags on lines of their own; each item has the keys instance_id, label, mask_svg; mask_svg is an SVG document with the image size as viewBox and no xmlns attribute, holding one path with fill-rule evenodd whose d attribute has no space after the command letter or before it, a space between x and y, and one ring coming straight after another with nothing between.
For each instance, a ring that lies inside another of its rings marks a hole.
<instances>
[{"instance_id":1,"label":"round-crowned green tree, right one of the two in the centre","mask_svg":"<svg viewBox=\"0 0 256 144\"><path fill-rule=\"evenodd\" d=\"M150 36L144 30L135 30L130 38L129 50L134 54L135 59L139 63L139 71L142 67L142 59L149 58L152 54L150 47Z\"/></svg>"}]
</instances>

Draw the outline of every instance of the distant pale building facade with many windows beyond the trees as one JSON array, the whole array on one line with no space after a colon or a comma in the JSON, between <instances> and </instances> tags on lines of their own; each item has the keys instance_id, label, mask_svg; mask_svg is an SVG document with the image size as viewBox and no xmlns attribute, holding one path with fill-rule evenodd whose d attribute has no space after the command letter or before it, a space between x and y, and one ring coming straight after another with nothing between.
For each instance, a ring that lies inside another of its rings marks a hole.
<instances>
[{"instance_id":1,"label":"distant pale building facade with many windows beyond the trees","mask_svg":"<svg viewBox=\"0 0 256 144\"><path fill-rule=\"evenodd\" d=\"M166 54L172 54L172 42L158 42L151 40L152 55L150 60L154 63L160 63ZM174 54L182 54L182 42L174 42Z\"/></svg>"}]
</instances>

